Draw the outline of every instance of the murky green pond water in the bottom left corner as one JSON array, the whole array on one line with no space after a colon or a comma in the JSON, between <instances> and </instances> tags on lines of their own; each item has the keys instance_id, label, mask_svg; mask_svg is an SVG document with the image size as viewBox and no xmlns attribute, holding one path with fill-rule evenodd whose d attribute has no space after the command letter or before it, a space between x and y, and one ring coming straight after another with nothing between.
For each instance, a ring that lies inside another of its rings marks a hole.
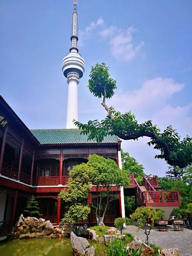
<instances>
[{"instance_id":1,"label":"murky green pond water in the bottom left corner","mask_svg":"<svg viewBox=\"0 0 192 256\"><path fill-rule=\"evenodd\" d=\"M1 256L72 256L69 238L12 240L0 243Z\"/></svg>"}]
</instances>

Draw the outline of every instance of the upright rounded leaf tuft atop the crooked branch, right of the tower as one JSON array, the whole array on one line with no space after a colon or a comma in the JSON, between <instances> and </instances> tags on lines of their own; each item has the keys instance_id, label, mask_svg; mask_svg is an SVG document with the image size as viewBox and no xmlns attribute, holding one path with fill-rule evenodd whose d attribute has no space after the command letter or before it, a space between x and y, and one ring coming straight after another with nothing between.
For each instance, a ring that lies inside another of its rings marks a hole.
<instances>
[{"instance_id":1,"label":"upright rounded leaf tuft atop the crooked branch, right of the tower","mask_svg":"<svg viewBox=\"0 0 192 256\"><path fill-rule=\"evenodd\" d=\"M97 63L91 67L89 90L95 97L111 98L114 95L116 81L110 77L109 68L105 63Z\"/></svg>"}]
</instances>

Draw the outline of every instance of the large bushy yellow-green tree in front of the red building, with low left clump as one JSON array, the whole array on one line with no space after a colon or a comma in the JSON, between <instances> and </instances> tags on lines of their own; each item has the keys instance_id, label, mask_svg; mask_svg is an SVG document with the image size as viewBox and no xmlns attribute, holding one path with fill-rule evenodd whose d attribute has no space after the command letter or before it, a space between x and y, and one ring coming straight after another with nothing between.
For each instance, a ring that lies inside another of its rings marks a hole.
<instances>
[{"instance_id":1,"label":"large bushy yellow-green tree in front of the red building, with low left clump","mask_svg":"<svg viewBox=\"0 0 192 256\"><path fill-rule=\"evenodd\" d=\"M120 170L114 160L105 159L96 154L91 155L87 163L73 167L69 175L67 184L69 189L62 190L59 197L70 205L63 221L72 224L78 219L87 218L86 212L87 215L90 212L88 196L92 198L90 207L95 212L97 224L103 221L106 209L110 202L117 199L117 193L119 193L114 191L114 185L119 188L126 187L130 182L127 173ZM91 191L92 185L95 192ZM82 215L79 211L80 205Z\"/></svg>"}]
</instances>

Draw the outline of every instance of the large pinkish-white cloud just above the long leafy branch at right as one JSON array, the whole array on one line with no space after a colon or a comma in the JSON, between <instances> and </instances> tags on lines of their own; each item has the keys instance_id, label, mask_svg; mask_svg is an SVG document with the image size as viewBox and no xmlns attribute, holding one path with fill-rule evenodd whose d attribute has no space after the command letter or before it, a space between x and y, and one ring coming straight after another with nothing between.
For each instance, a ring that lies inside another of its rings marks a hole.
<instances>
[{"instance_id":1,"label":"large pinkish-white cloud just above the long leafy branch at right","mask_svg":"<svg viewBox=\"0 0 192 256\"><path fill-rule=\"evenodd\" d=\"M183 88L184 84L176 83L172 78L156 77L146 80L140 89L133 92L116 93L110 104L122 112L157 110L164 106L168 98Z\"/></svg>"}]
</instances>

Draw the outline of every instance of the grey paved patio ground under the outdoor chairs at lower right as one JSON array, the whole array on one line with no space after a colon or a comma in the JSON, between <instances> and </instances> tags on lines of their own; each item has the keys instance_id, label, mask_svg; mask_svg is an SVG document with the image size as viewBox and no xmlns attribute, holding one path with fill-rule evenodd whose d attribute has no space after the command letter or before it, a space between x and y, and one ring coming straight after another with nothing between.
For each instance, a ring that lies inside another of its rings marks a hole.
<instances>
[{"instance_id":1,"label":"grey paved patio ground under the outdoor chairs at lower right","mask_svg":"<svg viewBox=\"0 0 192 256\"><path fill-rule=\"evenodd\" d=\"M145 241L144 230L140 229L137 231L137 226L130 225L123 228L124 233L131 233L133 236ZM178 248L179 255L192 255L192 229L184 228L184 231L174 231L172 226L169 226L168 232L161 231L155 227L151 230L150 236L148 237L150 243L164 248Z\"/></svg>"}]
</instances>

